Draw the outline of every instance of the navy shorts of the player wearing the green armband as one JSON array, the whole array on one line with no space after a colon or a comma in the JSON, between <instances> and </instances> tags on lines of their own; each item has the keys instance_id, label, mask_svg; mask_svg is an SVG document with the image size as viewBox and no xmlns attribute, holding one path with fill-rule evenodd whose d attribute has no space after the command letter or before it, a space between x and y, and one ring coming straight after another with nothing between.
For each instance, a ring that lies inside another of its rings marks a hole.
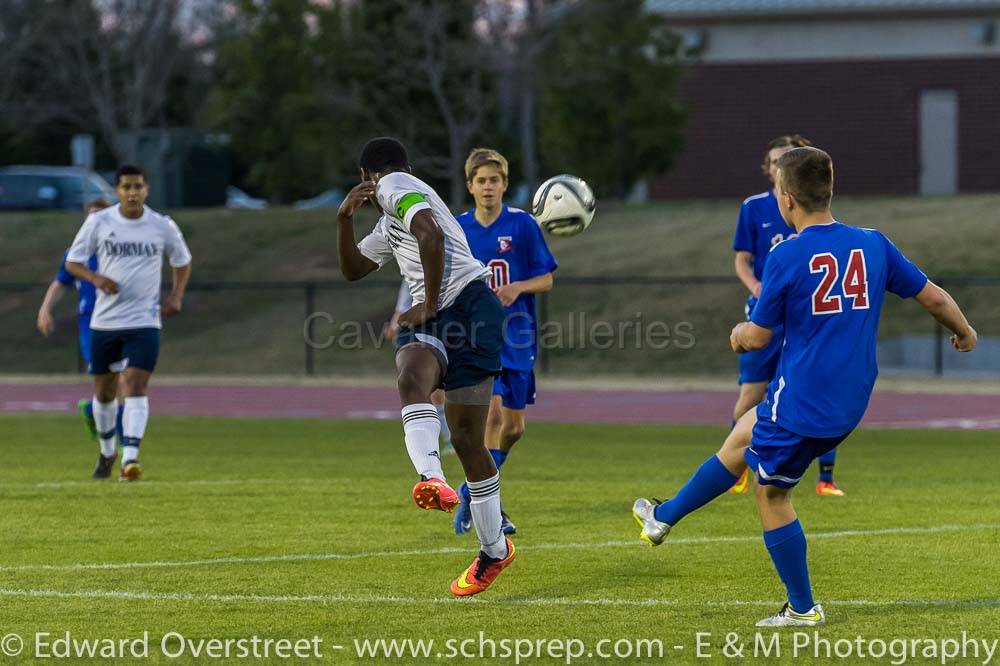
<instances>
[{"instance_id":1,"label":"navy shorts of the player wearing the green armband","mask_svg":"<svg viewBox=\"0 0 1000 666\"><path fill-rule=\"evenodd\" d=\"M415 342L429 345L444 368L445 391L475 386L500 374L503 327L503 306L485 282L476 280L434 319L400 330L396 350Z\"/></svg>"}]
</instances>

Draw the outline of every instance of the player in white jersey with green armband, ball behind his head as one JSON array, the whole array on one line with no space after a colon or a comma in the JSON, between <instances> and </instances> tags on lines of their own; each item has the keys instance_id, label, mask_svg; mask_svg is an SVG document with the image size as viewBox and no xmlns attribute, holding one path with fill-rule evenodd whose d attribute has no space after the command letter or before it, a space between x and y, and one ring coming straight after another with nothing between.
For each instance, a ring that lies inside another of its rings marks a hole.
<instances>
[{"instance_id":1,"label":"player in white jersey with green armband, ball behind his head","mask_svg":"<svg viewBox=\"0 0 1000 666\"><path fill-rule=\"evenodd\" d=\"M514 561L514 544L500 531L500 474L486 450L486 416L500 373L504 312L486 284L489 271L469 250L451 211L410 174L406 149L379 137L361 152L362 182L337 215L340 271L360 280L396 258L413 296L399 317L396 369L406 450L420 481L413 499L423 509L451 512L458 494L445 481L431 393L444 388L451 441L465 470L481 550L451 584L457 596L486 590ZM371 201L382 213L358 243L354 213Z\"/></svg>"}]
</instances>

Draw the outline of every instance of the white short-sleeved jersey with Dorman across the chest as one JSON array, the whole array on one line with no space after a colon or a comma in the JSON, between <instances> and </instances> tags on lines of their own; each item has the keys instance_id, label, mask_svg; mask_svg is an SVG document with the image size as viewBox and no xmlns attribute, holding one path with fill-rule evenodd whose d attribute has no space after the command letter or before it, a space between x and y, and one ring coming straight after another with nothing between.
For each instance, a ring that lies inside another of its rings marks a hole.
<instances>
[{"instance_id":1,"label":"white short-sleeved jersey with Dorman across the chest","mask_svg":"<svg viewBox=\"0 0 1000 666\"><path fill-rule=\"evenodd\" d=\"M115 281L118 293L97 290L90 327L96 331L161 328L163 257L170 258L173 268L191 263L177 224L146 206L137 220L124 217L118 206L105 208L84 221L66 261L86 264L94 254L100 274Z\"/></svg>"}]
</instances>

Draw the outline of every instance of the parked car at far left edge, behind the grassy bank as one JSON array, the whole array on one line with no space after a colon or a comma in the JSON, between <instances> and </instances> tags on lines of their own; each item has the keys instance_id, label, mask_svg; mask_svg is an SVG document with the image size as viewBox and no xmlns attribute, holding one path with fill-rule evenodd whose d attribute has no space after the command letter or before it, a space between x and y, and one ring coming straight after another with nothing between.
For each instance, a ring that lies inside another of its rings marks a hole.
<instances>
[{"instance_id":1,"label":"parked car at far left edge, behind the grassy bank","mask_svg":"<svg viewBox=\"0 0 1000 666\"><path fill-rule=\"evenodd\" d=\"M114 188L89 169L0 167L0 210L83 210L94 199L118 201Z\"/></svg>"}]
</instances>

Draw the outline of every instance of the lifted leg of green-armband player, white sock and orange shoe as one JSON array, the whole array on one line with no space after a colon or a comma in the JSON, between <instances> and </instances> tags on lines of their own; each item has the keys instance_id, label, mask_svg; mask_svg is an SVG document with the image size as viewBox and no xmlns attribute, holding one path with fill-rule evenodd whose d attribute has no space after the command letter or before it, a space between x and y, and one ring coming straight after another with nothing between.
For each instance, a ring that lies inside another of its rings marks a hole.
<instances>
[{"instance_id":1,"label":"lifted leg of green-armband player, white sock and orange shoe","mask_svg":"<svg viewBox=\"0 0 1000 666\"><path fill-rule=\"evenodd\" d=\"M431 404L431 393L441 384L441 370L437 352L428 345L411 343L396 352L403 438L420 475L413 488L413 501L422 509L451 512L458 504L458 494L445 481L441 468L441 421Z\"/></svg>"}]
</instances>

